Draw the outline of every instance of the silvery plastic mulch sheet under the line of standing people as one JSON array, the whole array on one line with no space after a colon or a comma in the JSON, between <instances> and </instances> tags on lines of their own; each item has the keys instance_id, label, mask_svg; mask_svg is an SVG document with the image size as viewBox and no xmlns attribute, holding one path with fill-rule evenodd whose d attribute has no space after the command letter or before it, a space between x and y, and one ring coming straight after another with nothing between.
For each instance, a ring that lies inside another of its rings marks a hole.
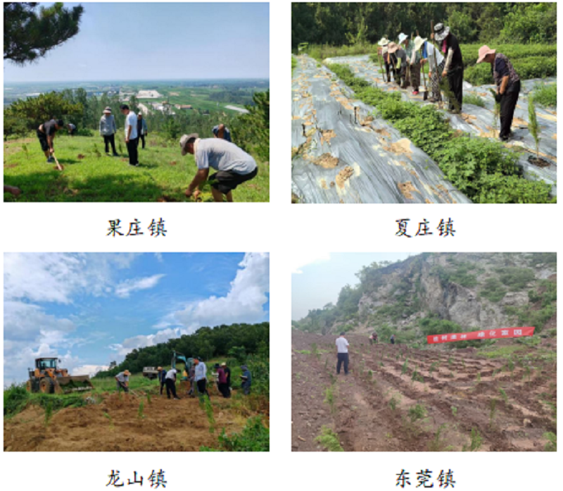
<instances>
[{"instance_id":1,"label":"silvery plastic mulch sheet under the line of standing people","mask_svg":"<svg viewBox=\"0 0 563 491\"><path fill-rule=\"evenodd\" d=\"M418 95L412 95L412 88L400 89L393 81L386 84L384 76L381 74L379 65L369 61L369 56L341 56L328 58L327 63L341 63L347 65L356 77L367 80L372 85L379 87L386 92L400 92L405 101L416 102L417 104L432 104L423 100L422 87L424 80L422 73L420 78L421 88ZM557 194L557 111L543 108L536 104L536 116L540 125L540 157L549 162L548 166L538 167L529 163L529 156L536 156L536 143L528 130L528 94L538 82L543 84L557 83L555 77L546 79L523 80L521 81L521 92L514 111L512 120L512 132L514 137L505 144L506 147L521 149L518 165L524 170L524 178L529 180L543 180L552 185L552 196ZM463 104L462 114L454 115L446 111L447 105L442 105L442 111L447 114L450 125L455 130L475 135L483 138L498 138L500 122L495 125L495 99L489 89L494 89L495 85L481 85L474 87L468 82L463 82L463 94L476 95L483 99L484 107L474 106L473 104ZM426 84L430 89L430 82L426 78ZM447 98L442 97L447 101Z\"/></svg>"}]
</instances>

